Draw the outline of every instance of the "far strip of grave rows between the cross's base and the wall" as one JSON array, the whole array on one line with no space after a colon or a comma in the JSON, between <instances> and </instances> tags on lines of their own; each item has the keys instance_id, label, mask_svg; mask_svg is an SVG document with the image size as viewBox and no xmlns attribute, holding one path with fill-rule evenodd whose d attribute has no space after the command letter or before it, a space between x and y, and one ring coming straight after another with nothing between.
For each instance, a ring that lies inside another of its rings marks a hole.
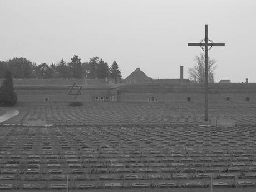
<instances>
[{"instance_id":1,"label":"far strip of grave rows between the cross's base and the wall","mask_svg":"<svg viewBox=\"0 0 256 192\"><path fill-rule=\"evenodd\" d=\"M26 124L46 119L47 124L204 124L204 105L191 103L19 103L19 115L6 124ZM256 104L211 102L209 119L234 119L237 124L256 124Z\"/></svg>"}]
</instances>

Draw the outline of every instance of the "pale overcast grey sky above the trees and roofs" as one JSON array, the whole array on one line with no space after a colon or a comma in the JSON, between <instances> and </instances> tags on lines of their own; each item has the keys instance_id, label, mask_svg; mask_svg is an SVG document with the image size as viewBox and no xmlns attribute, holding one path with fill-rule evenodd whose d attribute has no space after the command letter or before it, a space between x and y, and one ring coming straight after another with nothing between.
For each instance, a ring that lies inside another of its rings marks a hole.
<instances>
[{"instance_id":1,"label":"pale overcast grey sky above the trees and roofs","mask_svg":"<svg viewBox=\"0 0 256 192\"><path fill-rule=\"evenodd\" d=\"M209 38L215 81L256 82L256 1L254 0L0 0L0 60L70 62L99 56L119 64L123 77L140 67L152 78L179 78L180 65L194 65Z\"/></svg>"}]
</instances>

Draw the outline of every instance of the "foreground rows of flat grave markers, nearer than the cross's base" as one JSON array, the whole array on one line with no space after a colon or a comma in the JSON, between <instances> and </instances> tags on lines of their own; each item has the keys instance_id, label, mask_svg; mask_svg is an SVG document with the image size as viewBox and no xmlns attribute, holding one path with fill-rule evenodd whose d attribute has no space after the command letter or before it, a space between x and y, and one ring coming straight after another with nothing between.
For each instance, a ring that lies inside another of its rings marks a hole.
<instances>
[{"instance_id":1,"label":"foreground rows of flat grave markers, nearer than the cross's base","mask_svg":"<svg viewBox=\"0 0 256 192\"><path fill-rule=\"evenodd\" d=\"M0 128L0 191L255 191L255 125Z\"/></svg>"}]
</instances>

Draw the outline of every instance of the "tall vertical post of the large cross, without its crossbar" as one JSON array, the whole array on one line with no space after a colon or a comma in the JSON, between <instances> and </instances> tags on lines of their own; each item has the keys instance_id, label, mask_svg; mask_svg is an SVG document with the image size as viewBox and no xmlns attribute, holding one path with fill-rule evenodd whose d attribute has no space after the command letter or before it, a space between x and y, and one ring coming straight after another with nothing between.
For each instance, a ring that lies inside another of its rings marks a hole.
<instances>
[{"instance_id":1,"label":"tall vertical post of the large cross, without its crossbar","mask_svg":"<svg viewBox=\"0 0 256 192\"><path fill-rule=\"evenodd\" d=\"M208 25L205 24L204 37L204 121L208 121Z\"/></svg>"}]
</instances>

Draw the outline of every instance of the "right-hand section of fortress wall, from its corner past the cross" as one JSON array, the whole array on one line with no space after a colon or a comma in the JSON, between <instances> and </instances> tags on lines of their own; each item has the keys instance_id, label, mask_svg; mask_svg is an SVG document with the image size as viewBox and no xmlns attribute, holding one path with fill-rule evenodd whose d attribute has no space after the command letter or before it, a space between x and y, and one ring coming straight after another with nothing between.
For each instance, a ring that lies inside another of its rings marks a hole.
<instances>
[{"instance_id":1,"label":"right-hand section of fortress wall, from its corner past the cross","mask_svg":"<svg viewBox=\"0 0 256 192\"><path fill-rule=\"evenodd\" d=\"M122 85L119 88L120 101L148 102L154 97L159 102L191 102L204 103L204 84L134 84ZM209 84L209 102L256 102L256 83Z\"/></svg>"}]
</instances>

